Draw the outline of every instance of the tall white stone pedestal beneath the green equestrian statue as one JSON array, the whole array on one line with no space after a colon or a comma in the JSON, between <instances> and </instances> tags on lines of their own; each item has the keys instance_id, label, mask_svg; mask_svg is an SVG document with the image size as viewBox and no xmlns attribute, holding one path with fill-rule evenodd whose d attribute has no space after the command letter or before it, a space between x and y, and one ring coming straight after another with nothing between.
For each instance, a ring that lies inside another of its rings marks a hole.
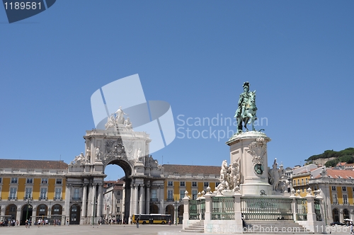
<instances>
[{"instance_id":1,"label":"tall white stone pedestal beneath the green equestrian statue","mask_svg":"<svg viewBox=\"0 0 354 235\"><path fill-rule=\"evenodd\" d=\"M230 147L231 163L240 165L242 195L270 195L268 183L267 142L270 138L263 132L235 134L226 143Z\"/></svg>"}]
</instances>

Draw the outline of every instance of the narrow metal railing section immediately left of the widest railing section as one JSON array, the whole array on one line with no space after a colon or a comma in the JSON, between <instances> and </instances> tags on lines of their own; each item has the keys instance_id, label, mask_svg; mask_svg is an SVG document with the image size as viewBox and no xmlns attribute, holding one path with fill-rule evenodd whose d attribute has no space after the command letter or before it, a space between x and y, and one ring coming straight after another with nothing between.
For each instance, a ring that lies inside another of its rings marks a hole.
<instances>
[{"instance_id":1,"label":"narrow metal railing section immediately left of the widest railing section","mask_svg":"<svg viewBox=\"0 0 354 235\"><path fill-rule=\"evenodd\" d=\"M212 197L212 219L235 219L234 197Z\"/></svg>"}]
</instances>

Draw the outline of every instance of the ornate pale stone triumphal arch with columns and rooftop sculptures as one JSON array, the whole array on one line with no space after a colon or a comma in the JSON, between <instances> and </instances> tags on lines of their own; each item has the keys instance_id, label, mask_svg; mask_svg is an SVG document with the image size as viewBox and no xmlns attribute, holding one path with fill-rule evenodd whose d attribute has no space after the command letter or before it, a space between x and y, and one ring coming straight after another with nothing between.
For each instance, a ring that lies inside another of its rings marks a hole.
<instances>
[{"instance_id":1,"label":"ornate pale stone triumphal arch with columns and rooftop sculptures","mask_svg":"<svg viewBox=\"0 0 354 235\"><path fill-rule=\"evenodd\" d=\"M146 132L135 132L122 114L110 115L105 130L86 131L85 153L69 164L64 211L76 216L76 224L96 224L103 217L104 172L110 164L125 172L122 211L126 221L132 214L149 214L151 189L163 188L162 167L149 156L152 139Z\"/></svg>"}]
</instances>

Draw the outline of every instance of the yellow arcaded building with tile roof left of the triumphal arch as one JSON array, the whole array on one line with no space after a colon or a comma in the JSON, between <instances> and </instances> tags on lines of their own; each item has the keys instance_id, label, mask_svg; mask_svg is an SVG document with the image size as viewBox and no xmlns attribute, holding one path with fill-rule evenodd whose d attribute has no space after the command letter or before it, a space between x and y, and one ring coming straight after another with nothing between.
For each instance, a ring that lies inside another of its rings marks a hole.
<instances>
[{"instance_id":1,"label":"yellow arcaded building with tile roof left of the triumphal arch","mask_svg":"<svg viewBox=\"0 0 354 235\"><path fill-rule=\"evenodd\" d=\"M63 161L0 159L0 220L63 221L68 165Z\"/></svg>"}]
</instances>

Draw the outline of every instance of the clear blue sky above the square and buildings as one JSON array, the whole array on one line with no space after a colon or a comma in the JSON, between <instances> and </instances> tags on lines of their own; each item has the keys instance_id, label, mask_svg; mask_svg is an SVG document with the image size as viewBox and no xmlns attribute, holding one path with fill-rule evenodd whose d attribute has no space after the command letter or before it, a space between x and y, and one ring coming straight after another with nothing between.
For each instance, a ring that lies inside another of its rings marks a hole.
<instances>
[{"instance_id":1,"label":"clear blue sky above the square and buildings","mask_svg":"<svg viewBox=\"0 0 354 235\"><path fill-rule=\"evenodd\" d=\"M272 139L269 166L353 147L353 10L353 1L58 0L10 24L0 7L1 158L69 164L94 127L92 93L132 74L148 101L170 103L176 129L188 117L233 117L249 81L266 120L256 128ZM227 137L179 132L153 154L159 164L229 161Z\"/></svg>"}]
</instances>

